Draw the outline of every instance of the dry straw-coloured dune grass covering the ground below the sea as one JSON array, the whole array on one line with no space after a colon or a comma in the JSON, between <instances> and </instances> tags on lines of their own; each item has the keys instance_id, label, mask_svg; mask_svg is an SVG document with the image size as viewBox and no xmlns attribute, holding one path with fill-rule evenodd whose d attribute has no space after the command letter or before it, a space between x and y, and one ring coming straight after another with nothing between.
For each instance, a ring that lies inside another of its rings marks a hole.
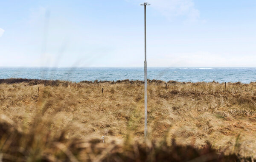
<instances>
[{"instance_id":1,"label":"dry straw-coloured dune grass covering the ground below the sea","mask_svg":"<svg viewBox=\"0 0 256 162\"><path fill-rule=\"evenodd\" d=\"M255 82L165 83L148 81L144 143L143 81L0 79L0 160L253 161Z\"/></svg>"}]
</instances>

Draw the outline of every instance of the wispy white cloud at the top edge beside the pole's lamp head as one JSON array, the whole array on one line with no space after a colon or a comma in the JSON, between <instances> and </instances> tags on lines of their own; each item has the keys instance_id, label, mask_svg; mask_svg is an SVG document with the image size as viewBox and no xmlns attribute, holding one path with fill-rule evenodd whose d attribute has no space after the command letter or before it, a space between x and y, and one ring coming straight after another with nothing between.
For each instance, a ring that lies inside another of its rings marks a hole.
<instances>
[{"instance_id":1,"label":"wispy white cloud at the top edge beside the pole's lamp head","mask_svg":"<svg viewBox=\"0 0 256 162\"><path fill-rule=\"evenodd\" d=\"M140 3L141 0L126 0L128 2ZM193 0L148 0L151 7L160 12L167 19L185 17L185 22L195 22L200 17L200 11L195 8Z\"/></svg>"}]
</instances>

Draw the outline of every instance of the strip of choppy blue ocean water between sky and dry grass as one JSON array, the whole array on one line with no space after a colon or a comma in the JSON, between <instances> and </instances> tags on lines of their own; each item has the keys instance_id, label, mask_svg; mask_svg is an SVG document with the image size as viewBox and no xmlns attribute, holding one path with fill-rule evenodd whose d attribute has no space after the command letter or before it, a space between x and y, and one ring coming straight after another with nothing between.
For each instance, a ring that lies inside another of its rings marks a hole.
<instances>
[{"instance_id":1,"label":"strip of choppy blue ocean water between sky and dry grass","mask_svg":"<svg viewBox=\"0 0 256 162\"><path fill-rule=\"evenodd\" d=\"M0 67L0 78L35 78L67 81L144 80L143 67L36 68ZM256 67L148 67L148 79L163 81L256 81Z\"/></svg>"}]
</instances>

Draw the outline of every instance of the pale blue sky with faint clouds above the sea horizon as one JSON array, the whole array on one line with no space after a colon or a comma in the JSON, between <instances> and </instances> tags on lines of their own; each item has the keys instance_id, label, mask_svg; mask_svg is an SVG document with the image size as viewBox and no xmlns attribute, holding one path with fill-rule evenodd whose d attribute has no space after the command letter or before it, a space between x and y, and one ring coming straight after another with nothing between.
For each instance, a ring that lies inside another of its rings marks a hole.
<instances>
[{"instance_id":1,"label":"pale blue sky with faint clouds above the sea horizon","mask_svg":"<svg viewBox=\"0 0 256 162\"><path fill-rule=\"evenodd\" d=\"M0 67L143 67L141 0L1 0ZM256 67L256 0L148 0L148 67Z\"/></svg>"}]
</instances>

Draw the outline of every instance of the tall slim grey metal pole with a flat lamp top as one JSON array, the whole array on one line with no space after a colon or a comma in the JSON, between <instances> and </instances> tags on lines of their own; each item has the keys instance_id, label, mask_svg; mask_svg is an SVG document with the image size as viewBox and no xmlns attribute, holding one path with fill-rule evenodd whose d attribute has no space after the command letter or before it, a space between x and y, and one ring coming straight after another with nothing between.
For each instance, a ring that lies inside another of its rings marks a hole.
<instances>
[{"instance_id":1,"label":"tall slim grey metal pole with a flat lamp top","mask_svg":"<svg viewBox=\"0 0 256 162\"><path fill-rule=\"evenodd\" d=\"M147 117L148 117L148 96L147 96L147 32L146 32L146 6L150 5L149 3L143 3L141 4L144 6L144 23L145 23L145 61L144 61L144 111L145 111L145 129L144 129L144 137L145 140L147 139L148 135L148 122L147 122Z\"/></svg>"}]
</instances>

